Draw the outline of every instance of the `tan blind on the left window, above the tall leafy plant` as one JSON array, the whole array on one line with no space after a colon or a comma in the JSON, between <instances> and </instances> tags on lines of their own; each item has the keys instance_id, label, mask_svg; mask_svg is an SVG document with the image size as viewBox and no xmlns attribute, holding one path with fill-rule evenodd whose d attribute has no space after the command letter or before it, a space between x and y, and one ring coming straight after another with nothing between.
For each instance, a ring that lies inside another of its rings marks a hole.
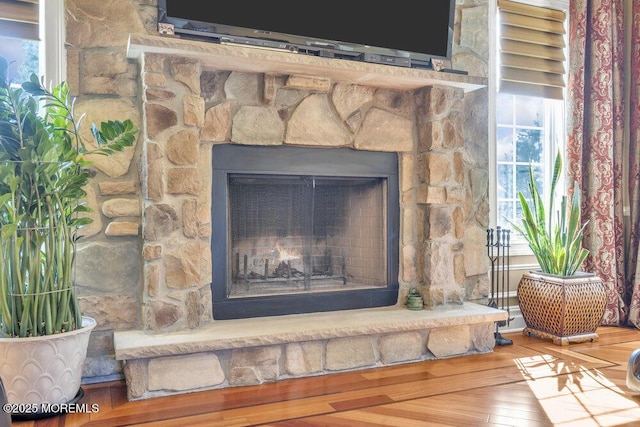
<instances>
[{"instance_id":1,"label":"tan blind on the left window, above the tall leafy plant","mask_svg":"<svg viewBox=\"0 0 640 427\"><path fill-rule=\"evenodd\" d=\"M39 40L38 0L0 0L0 36Z\"/></svg>"}]
</instances>

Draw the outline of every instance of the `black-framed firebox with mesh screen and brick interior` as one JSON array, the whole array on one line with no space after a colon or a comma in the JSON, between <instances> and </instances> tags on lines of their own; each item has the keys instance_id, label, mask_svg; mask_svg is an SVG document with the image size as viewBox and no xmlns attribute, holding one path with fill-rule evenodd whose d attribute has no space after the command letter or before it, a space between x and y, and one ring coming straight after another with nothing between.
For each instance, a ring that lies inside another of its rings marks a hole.
<instances>
[{"instance_id":1,"label":"black-framed firebox with mesh screen and brick interior","mask_svg":"<svg viewBox=\"0 0 640 427\"><path fill-rule=\"evenodd\" d=\"M393 305L396 153L213 147L213 317Z\"/></svg>"}]
</instances>

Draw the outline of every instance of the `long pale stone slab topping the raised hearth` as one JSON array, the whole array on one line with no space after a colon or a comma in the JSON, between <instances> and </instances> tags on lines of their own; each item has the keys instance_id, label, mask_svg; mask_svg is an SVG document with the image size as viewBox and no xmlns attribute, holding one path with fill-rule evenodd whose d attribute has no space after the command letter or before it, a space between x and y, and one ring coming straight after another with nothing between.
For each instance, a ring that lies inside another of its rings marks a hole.
<instances>
[{"instance_id":1,"label":"long pale stone slab topping the raised hearth","mask_svg":"<svg viewBox=\"0 0 640 427\"><path fill-rule=\"evenodd\" d=\"M433 329L507 320L507 312L465 302L434 310L404 306L216 320L200 329L149 334L116 331L116 359L138 359L201 351L256 347L358 335Z\"/></svg>"}]
</instances>

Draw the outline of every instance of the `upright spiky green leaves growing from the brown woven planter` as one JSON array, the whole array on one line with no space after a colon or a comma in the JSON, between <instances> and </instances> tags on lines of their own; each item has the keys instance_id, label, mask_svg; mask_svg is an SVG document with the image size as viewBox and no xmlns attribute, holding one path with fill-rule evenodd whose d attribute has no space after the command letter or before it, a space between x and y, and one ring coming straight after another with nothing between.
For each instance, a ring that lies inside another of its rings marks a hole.
<instances>
[{"instance_id":1,"label":"upright spiky green leaves growing from the brown woven planter","mask_svg":"<svg viewBox=\"0 0 640 427\"><path fill-rule=\"evenodd\" d=\"M562 195L560 206L554 211L561 173L562 155L558 152L551 178L551 191L545 206L535 184L533 168L529 167L530 199L522 192L518 193L522 207L521 225L510 222L529 243L543 273L573 276L589 254L582 245L587 222L580 224L580 192L575 183L572 195Z\"/></svg>"}]
</instances>

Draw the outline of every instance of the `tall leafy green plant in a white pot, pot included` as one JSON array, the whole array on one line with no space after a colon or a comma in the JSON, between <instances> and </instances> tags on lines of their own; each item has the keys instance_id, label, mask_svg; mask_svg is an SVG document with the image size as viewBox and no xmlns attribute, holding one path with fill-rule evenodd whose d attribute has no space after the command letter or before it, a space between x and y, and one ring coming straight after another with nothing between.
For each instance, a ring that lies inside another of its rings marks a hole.
<instances>
[{"instance_id":1,"label":"tall leafy green plant in a white pot, pot included","mask_svg":"<svg viewBox=\"0 0 640 427\"><path fill-rule=\"evenodd\" d=\"M47 88L36 75L10 85L7 67L0 57L0 377L10 403L65 403L81 392L95 326L74 283L78 229L91 221L85 156L132 146L138 129L131 120L93 125L89 150L68 85ZM30 378L34 371L46 380Z\"/></svg>"}]
</instances>

